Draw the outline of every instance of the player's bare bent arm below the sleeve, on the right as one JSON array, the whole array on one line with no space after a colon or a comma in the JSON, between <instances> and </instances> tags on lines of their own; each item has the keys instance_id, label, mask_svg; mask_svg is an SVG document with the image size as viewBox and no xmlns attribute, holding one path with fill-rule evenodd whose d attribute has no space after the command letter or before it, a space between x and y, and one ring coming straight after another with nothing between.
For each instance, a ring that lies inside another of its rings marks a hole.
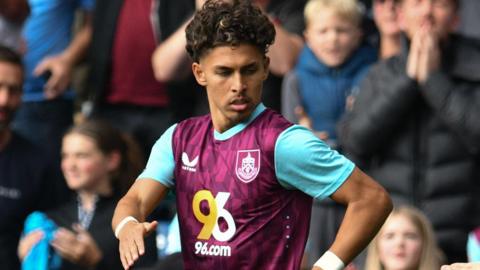
<instances>
[{"instance_id":1,"label":"player's bare bent arm below the sleeve, on the right","mask_svg":"<svg viewBox=\"0 0 480 270\"><path fill-rule=\"evenodd\" d=\"M375 237L392 210L392 202L383 187L358 168L330 197L347 206L329 249L346 265ZM317 262L314 269L322 269L318 265L322 264Z\"/></svg>"}]
</instances>

